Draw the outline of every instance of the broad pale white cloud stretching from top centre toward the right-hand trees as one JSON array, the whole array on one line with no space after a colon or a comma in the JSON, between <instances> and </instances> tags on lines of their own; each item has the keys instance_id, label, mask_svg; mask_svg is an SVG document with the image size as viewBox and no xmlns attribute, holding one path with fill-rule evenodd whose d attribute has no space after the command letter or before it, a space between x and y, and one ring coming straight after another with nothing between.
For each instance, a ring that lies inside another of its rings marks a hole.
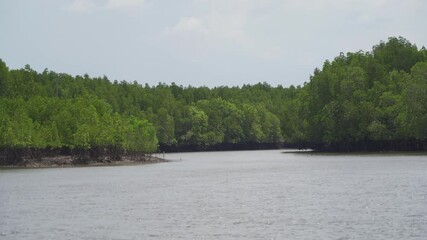
<instances>
[{"instance_id":1,"label":"broad pale white cloud stretching from top centre toward the right-hand trees","mask_svg":"<svg viewBox=\"0 0 427 240\"><path fill-rule=\"evenodd\" d=\"M181 16L164 33L179 47L189 50L217 49L277 61L298 55L295 46L310 44L312 39L323 36L326 29L334 29L341 34L349 34L352 29L371 33L371 29L385 24L387 19L379 13L388 10L391 2L192 0L190 17ZM324 39L317 42L318 47L334 40ZM194 48L195 45L200 48Z\"/></svg>"}]
</instances>

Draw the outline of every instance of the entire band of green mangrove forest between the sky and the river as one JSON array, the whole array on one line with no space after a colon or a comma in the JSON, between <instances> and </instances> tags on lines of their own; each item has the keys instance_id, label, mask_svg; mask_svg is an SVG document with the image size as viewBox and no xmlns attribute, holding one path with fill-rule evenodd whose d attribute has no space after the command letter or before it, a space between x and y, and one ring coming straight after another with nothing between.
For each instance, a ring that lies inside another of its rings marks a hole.
<instances>
[{"instance_id":1,"label":"entire band of green mangrove forest between the sky and the river","mask_svg":"<svg viewBox=\"0 0 427 240\"><path fill-rule=\"evenodd\" d=\"M340 54L288 88L149 86L0 60L3 163L55 151L120 159L159 146L425 150L426 140L427 50L401 37Z\"/></svg>"}]
</instances>

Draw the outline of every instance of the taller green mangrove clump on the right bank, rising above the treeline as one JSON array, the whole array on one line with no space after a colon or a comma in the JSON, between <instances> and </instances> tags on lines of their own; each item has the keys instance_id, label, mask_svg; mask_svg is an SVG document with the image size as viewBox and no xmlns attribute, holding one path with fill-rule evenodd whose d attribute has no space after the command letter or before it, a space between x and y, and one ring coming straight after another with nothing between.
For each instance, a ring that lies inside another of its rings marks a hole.
<instances>
[{"instance_id":1,"label":"taller green mangrove clump on the right bank, rising above the treeline","mask_svg":"<svg viewBox=\"0 0 427 240\"><path fill-rule=\"evenodd\" d=\"M341 54L307 84L308 136L323 144L427 138L425 62L404 38Z\"/></svg>"}]
</instances>

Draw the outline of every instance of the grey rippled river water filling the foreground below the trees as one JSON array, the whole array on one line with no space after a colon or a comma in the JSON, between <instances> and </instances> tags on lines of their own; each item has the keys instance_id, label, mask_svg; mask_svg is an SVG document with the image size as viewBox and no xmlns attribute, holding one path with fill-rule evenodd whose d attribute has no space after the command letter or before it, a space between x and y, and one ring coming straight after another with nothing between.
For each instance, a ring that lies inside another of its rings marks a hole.
<instances>
[{"instance_id":1,"label":"grey rippled river water filling the foreground below the trees","mask_svg":"<svg viewBox=\"0 0 427 240\"><path fill-rule=\"evenodd\" d=\"M0 170L0 239L427 239L427 157L282 151Z\"/></svg>"}]
</instances>

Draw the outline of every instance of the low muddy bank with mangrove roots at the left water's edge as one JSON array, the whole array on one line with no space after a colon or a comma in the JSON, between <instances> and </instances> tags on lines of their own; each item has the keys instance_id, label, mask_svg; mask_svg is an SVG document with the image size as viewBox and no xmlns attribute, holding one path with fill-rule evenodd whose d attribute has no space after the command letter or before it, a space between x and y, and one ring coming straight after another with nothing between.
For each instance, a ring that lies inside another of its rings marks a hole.
<instances>
[{"instance_id":1,"label":"low muddy bank with mangrove roots at the left water's edge","mask_svg":"<svg viewBox=\"0 0 427 240\"><path fill-rule=\"evenodd\" d=\"M58 155L39 159L23 159L16 164L0 165L0 168L55 168L55 167L94 167L94 166L125 166L168 162L156 156L124 156L121 160L88 160L76 161L72 156Z\"/></svg>"}]
</instances>

